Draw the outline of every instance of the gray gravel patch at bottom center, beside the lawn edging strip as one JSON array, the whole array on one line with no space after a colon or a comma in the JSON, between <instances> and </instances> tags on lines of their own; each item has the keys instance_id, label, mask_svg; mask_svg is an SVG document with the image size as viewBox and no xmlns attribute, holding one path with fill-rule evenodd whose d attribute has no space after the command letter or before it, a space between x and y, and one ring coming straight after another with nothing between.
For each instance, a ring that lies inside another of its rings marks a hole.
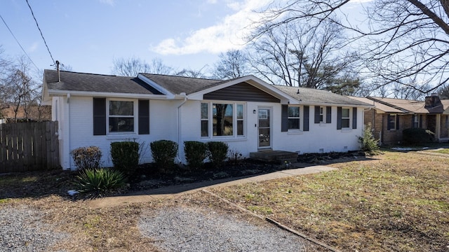
<instances>
[{"instance_id":1,"label":"gray gravel patch at bottom center, beside the lawn edging strip","mask_svg":"<svg viewBox=\"0 0 449 252\"><path fill-rule=\"evenodd\" d=\"M300 237L280 228L197 208L147 213L138 225L166 251L306 251Z\"/></svg>"}]
</instances>

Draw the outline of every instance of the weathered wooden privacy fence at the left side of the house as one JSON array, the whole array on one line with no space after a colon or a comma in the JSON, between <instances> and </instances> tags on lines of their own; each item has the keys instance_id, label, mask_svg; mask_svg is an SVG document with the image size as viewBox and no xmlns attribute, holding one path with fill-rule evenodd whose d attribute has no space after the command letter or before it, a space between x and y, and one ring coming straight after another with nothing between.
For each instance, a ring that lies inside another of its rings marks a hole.
<instances>
[{"instance_id":1,"label":"weathered wooden privacy fence at the left side of the house","mask_svg":"<svg viewBox=\"0 0 449 252\"><path fill-rule=\"evenodd\" d=\"M0 173L59 166L58 122L0 124Z\"/></svg>"}]
</instances>

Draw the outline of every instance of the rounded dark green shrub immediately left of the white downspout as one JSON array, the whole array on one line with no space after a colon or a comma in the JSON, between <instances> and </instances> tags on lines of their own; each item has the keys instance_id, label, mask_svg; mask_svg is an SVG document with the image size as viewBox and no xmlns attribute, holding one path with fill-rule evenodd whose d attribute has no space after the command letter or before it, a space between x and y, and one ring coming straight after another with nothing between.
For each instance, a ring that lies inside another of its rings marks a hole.
<instances>
[{"instance_id":1,"label":"rounded dark green shrub immediately left of the white downspout","mask_svg":"<svg viewBox=\"0 0 449 252\"><path fill-rule=\"evenodd\" d=\"M177 143L170 140L159 140L149 144L154 162L163 172L168 172L175 164Z\"/></svg>"}]
</instances>

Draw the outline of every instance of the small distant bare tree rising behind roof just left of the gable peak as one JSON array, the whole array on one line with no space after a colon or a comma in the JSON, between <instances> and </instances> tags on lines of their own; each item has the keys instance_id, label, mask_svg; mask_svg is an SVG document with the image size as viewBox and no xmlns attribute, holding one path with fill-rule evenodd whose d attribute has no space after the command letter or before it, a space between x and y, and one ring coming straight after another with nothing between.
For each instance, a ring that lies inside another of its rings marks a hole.
<instances>
[{"instance_id":1,"label":"small distant bare tree rising behind roof just left of the gable peak","mask_svg":"<svg viewBox=\"0 0 449 252\"><path fill-rule=\"evenodd\" d=\"M214 78L226 80L248 75L248 57L242 50L229 50L220 53L219 57L218 62L214 64Z\"/></svg>"}]
</instances>

